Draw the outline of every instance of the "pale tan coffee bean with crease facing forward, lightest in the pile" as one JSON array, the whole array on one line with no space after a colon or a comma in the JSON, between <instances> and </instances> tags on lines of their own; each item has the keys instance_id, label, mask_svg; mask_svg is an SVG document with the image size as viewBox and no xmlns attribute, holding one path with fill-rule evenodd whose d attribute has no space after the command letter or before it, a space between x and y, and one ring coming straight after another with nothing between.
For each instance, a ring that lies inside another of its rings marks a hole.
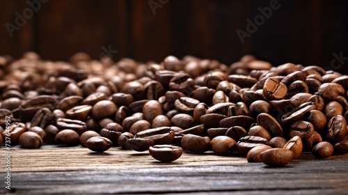
<instances>
[{"instance_id":1,"label":"pale tan coffee bean with crease facing forward, lightest in the pile","mask_svg":"<svg viewBox=\"0 0 348 195\"><path fill-rule=\"evenodd\" d=\"M275 77L269 77L263 86L263 96L266 100L281 100L287 94L287 86Z\"/></svg>"}]
</instances>

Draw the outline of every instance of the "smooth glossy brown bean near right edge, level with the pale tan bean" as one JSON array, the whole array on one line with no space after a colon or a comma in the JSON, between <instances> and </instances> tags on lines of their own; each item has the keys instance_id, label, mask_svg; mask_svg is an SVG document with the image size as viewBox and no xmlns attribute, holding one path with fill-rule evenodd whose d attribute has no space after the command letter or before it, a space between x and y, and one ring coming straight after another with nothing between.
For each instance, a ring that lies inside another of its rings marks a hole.
<instances>
[{"instance_id":1,"label":"smooth glossy brown bean near right edge, level with the pale tan bean","mask_svg":"<svg viewBox=\"0 0 348 195\"><path fill-rule=\"evenodd\" d=\"M339 95L343 94L345 94L345 88L340 84L326 83L318 88L318 95L322 96L325 100L336 100Z\"/></svg>"}]
</instances>

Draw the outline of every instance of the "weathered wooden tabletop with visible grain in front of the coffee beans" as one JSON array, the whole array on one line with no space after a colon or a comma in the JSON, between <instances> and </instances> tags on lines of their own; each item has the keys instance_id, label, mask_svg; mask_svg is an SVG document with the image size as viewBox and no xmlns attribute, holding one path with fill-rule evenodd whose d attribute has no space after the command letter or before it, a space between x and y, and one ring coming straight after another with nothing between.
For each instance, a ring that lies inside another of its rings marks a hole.
<instances>
[{"instance_id":1,"label":"weathered wooden tabletop with visible grain in front of the coffee beans","mask_svg":"<svg viewBox=\"0 0 348 195\"><path fill-rule=\"evenodd\" d=\"M1 154L8 151L1 147ZM0 194L348 194L348 154L315 159L303 153L281 168L240 155L185 151L161 163L146 152L81 146L13 147L11 190ZM6 158L1 157L4 180Z\"/></svg>"}]
</instances>

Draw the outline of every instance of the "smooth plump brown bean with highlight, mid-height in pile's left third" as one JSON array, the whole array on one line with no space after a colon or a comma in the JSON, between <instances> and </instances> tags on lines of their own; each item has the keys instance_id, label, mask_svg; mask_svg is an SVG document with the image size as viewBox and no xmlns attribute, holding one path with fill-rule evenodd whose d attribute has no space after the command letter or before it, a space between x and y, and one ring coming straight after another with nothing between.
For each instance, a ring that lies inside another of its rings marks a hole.
<instances>
[{"instance_id":1,"label":"smooth plump brown bean with highlight, mid-height in pile's left third","mask_svg":"<svg viewBox=\"0 0 348 195\"><path fill-rule=\"evenodd\" d=\"M94 104L92 108L92 116L96 119L106 118L116 114L117 109L118 107L113 102L102 100Z\"/></svg>"}]
</instances>

